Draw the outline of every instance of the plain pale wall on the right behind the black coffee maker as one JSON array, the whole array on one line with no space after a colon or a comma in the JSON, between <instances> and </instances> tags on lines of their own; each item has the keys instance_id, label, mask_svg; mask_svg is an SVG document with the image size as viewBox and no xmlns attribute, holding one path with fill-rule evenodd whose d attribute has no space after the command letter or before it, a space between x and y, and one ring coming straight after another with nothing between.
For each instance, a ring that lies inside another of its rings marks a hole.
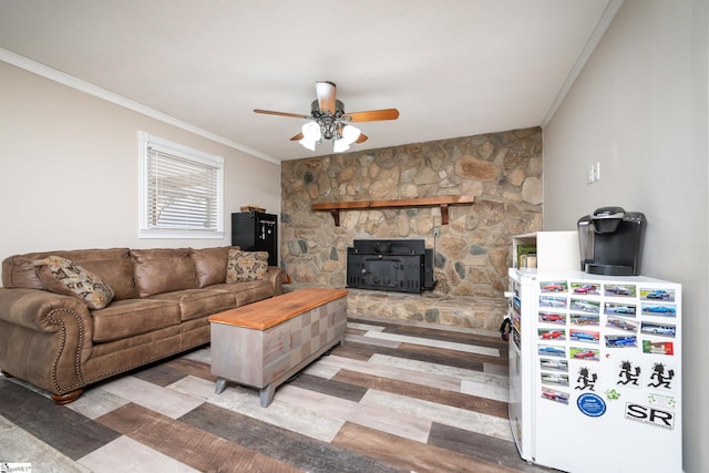
<instances>
[{"instance_id":1,"label":"plain pale wall on the right behind the black coffee maker","mask_svg":"<svg viewBox=\"0 0 709 473\"><path fill-rule=\"evenodd\" d=\"M707 19L706 0L627 0L544 128L545 229L643 212L643 273L682 284L687 472L709 471Z\"/></svg>"}]
</instances>

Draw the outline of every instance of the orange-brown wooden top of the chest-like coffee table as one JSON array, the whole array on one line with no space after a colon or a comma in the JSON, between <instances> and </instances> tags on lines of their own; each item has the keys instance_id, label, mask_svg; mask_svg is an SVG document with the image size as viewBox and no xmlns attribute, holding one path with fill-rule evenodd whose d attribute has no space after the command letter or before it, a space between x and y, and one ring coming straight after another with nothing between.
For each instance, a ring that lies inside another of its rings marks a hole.
<instances>
[{"instance_id":1,"label":"orange-brown wooden top of the chest-like coffee table","mask_svg":"<svg viewBox=\"0 0 709 473\"><path fill-rule=\"evenodd\" d=\"M346 297L347 289L311 287L209 316L209 321L266 330L308 310Z\"/></svg>"}]
</instances>

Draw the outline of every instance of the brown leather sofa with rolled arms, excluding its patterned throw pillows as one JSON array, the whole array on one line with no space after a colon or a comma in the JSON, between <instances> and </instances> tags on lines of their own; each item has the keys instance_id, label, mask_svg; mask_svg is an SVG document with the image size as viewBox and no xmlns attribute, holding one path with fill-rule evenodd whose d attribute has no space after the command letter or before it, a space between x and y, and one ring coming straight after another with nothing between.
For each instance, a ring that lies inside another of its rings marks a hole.
<instances>
[{"instance_id":1,"label":"brown leather sofa with rolled arms, excluding its patterned throw pillows","mask_svg":"<svg viewBox=\"0 0 709 473\"><path fill-rule=\"evenodd\" d=\"M209 342L208 316L281 294L286 275L226 282L229 249L85 249L2 261L0 369L49 391L56 403L112 376ZM33 261L66 258L101 278L113 300L91 310L47 290Z\"/></svg>"}]
</instances>

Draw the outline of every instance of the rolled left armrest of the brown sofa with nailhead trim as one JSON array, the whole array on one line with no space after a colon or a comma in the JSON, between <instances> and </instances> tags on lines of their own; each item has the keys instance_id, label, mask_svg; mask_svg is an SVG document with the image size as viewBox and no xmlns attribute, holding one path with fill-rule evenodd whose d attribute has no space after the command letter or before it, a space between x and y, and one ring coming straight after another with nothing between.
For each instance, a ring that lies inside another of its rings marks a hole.
<instances>
[{"instance_id":1,"label":"rolled left armrest of the brown sofa with nailhead trim","mask_svg":"<svg viewBox=\"0 0 709 473\"><path fill-rule=\"evenodd\" d=\"M82 387L93 323L76 298L0 288L0 368L54 394Z\"/></svg>"}]
</instances>

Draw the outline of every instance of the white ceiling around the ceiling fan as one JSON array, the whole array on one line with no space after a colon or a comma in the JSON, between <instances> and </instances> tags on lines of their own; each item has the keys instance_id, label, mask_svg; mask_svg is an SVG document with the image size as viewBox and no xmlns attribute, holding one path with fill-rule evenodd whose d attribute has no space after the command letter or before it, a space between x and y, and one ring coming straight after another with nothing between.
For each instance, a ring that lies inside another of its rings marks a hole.
<instances>
[{"instance_id":1,"label":"white ceiling around the ceiling fan","mask_svg":"<svg viewBox=\"0 0 709 473\"><path fill-rule=\"evenodd\" d=\"M616 4L0 0L0 48L282 161L331 145L253 109L308 114L319 80L347 111L401 113L353 151L542 125Z\"/></svg>"}]
</instances>

